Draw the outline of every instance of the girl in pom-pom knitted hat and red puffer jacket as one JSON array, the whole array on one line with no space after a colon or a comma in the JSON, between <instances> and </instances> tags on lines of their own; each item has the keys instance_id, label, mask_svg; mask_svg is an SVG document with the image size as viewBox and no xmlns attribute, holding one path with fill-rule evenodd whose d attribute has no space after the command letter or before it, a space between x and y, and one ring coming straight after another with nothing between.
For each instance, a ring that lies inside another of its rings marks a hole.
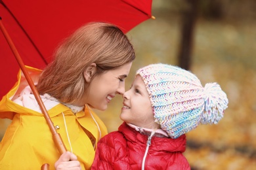
<instances>
[{"instance_id":1,"label":"girl in pom-pom knitted hat and red puffer jacket","mask_svg":"<svg viewBox=\"0 0 256 170\"><path fill-rule=\"evenodd\" d=\"M98 142L92 169L190 169L182 152L185 133L198 124L217 124L226 93L184 69L153 64L137 71L123 94L118 131Z\"/></svg>"}]
</instances>

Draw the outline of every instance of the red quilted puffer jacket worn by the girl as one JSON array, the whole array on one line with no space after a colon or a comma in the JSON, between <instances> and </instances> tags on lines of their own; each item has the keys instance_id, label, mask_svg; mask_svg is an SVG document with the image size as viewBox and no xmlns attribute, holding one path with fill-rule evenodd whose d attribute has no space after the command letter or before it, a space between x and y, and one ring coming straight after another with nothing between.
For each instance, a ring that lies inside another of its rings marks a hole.
<instances>
[{"instance_id":1,"label":"red quilted puffer jacket worn by the girl","mask_svg":"<svg viewBox=\"0 0 256 170\"><path fill-rule=\"evenodd\" d=\"M91 169L142 169L147 135L142 135L123 123L98 142ZM177 139L152 137L145 161L145 169L190 169L182 152L186 150L186 136Z\"/></svg>"}]
</instances>

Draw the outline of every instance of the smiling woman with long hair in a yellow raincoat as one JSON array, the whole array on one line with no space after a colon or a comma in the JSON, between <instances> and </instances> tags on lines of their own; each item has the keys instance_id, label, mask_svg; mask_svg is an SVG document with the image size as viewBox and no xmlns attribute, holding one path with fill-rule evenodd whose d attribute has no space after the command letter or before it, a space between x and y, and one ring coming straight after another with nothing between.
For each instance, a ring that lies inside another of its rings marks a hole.
<instances>
[{"instance_id":1,"label":"smiling woman with long hair in a yellow raincoat","mask_svg":"<svg viewBox=\"0 0 256 170\"><path fill-rule=\"evenodd\" d=\"M90 107L107 109L125 91L135 52L115 25L90 23L68 37L44 71L28 67L54 126L81 169L90 169L106 126ZM50 169L60 154L21 72L0 102L0 118L12 119L0 144L0 169ZM70 158L72 159L72 158Z\"/></svg>"}]
</instances>

